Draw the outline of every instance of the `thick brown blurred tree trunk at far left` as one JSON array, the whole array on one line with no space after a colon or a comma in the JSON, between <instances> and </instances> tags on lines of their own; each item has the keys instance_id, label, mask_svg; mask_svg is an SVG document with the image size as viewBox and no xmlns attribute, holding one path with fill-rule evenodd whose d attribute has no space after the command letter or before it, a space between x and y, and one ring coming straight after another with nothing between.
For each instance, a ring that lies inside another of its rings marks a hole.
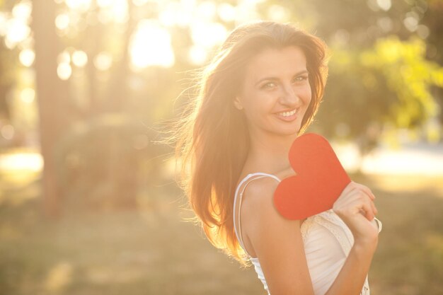
<instances>
[{"instance_id":1,"label":"thick brown blurred tree trunk at far left","mask_svg":"<svg viewBox=\"0 0 443 295\"><path fill-rule=\"evenodd\" d=\"M67 126L67 82L57 76L59 39L54 25L54 1L33 1L35 39L35 77L40 116L41 154L45 163L42 175L42 205L46 216L58 217L61 187L57 181L54 148Z\"/></svg>"}]
</instances>

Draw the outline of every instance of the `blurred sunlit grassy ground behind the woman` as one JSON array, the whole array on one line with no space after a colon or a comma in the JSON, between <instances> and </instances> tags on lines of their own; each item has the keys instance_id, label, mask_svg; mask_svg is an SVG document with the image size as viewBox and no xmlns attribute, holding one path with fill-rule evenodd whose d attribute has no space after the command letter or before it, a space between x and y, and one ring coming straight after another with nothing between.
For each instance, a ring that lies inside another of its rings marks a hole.
<instances>
[{"instance_id":1,"label":"blurred sunlit grassy ground behind the woman","mask_svg":"<svg viewBox=\"0 0 443 295\"><path fill-rule=\"evenodd\" d=\"M352 178L372 187L384 223L372 294L443 294L443 178ZM36 175L17 179L0 171L0 294L265 294L252 268L183 221L192 215L174 185L134 210L65 202L62 218L51 221L40 214Z\"/></svg>"}]
</instances>

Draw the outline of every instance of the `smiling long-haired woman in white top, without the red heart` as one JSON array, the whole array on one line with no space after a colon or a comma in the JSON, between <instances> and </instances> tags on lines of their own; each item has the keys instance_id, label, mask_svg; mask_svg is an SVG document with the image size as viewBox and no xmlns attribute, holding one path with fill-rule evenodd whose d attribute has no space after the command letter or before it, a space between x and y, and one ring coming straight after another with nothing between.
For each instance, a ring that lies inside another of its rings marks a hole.
<instances>
[{"instance_id":1,"label":"smiling long-haired woman in white top, without the red heart","mask_svg":"<svg viewBox=\"0 0 443 295\"><path fill-rule=\"evenodd\" d=\"M178 129L183 185L209 241L251 262L272 295L369 294L379 233L369 188L350 183L333 210L305 220L284 219L272 203L323 96L325 52L292 25L236 28Z\"/></svg>"}]
</instances>

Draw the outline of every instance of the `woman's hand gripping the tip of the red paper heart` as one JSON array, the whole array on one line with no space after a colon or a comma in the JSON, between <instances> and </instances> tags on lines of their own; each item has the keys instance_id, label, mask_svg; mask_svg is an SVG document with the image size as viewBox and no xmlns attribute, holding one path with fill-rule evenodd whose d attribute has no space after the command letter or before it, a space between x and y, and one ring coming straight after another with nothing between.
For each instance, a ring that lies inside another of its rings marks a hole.
<instances>
[{"instance_id":1,"label":"woman's hand gripping the tip of the red paper heart","mask_svg":"<svg viewBox=\"0 0 443 295\"><path fill-rule=\"evenodd\" d=\"M369 187L351 182L333 205L333 211L349 227L355 243L376 244L379 231L372 222L377 214L374 199Z\"/></svg>"}]
</instances>

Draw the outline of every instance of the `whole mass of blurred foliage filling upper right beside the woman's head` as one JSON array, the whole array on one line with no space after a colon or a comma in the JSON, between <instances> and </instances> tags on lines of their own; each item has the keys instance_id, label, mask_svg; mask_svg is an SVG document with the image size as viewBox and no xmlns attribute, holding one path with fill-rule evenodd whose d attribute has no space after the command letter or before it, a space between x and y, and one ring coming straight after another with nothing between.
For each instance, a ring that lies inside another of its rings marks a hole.
<instances>
[{"instance_id":1,"label":"whole mass of blurred foliage filling upper right beside the woman's head","mask_svg":"<svg viewBox=\"0 0 443 295\"><path fill-rule=\"evenodd\" d=\"M362 150L376 146L386 129L441 138L442 1L266 3L287 8L292 22L331 47L325 100L313 125L318 132L357 139ZM430 119L432 132L423 127Z\"/></svg>"}]
</instances>

